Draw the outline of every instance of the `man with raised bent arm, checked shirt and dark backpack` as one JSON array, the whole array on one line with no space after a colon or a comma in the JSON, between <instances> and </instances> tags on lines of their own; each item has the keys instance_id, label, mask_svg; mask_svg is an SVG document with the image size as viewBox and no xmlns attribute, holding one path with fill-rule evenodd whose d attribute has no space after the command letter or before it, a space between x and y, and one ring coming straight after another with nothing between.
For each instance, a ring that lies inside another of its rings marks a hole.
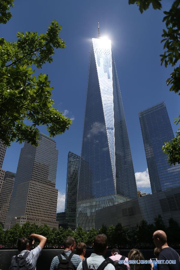
<instances>
[{"instance_id":1,"label":"man with raised bent arm, checked shirt and dark backpack","mask_svg":"<svg viewBox=\"0 0 180 270\"><path fill-rule=\"evenodd\" d=\"M29 251L29 239L26 237L18 239L17 248L20 253L17 256L12 257L9 268L10 270L17 269L19 265L23 265L24 269L36 270L37 259L46 243L47 238L35 233L32 233L30 237L37 238L39 240L39 245L33 250Z\"/></svg>"}]
</instances>

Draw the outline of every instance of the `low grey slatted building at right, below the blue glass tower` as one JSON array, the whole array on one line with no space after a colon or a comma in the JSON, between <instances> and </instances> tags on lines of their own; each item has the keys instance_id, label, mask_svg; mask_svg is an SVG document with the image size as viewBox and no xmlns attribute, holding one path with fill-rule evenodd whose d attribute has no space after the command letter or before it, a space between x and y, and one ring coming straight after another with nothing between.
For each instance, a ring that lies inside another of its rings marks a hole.
<instances>
[{"instance_id":1,"label":"low grey slatted building at right, below the blue glass tower","mask_svg":"<svg viewBox=\"0 0 180 270\"><path fill-rule=\"evenodd\" d=\"M108 227L121 223L134 228L141 220L154 223L159 214L165 226L169 226L171 217L180 226L180 186L98 210L95 227L100 229L102 224Z\"/></svg>"}]
</instances>

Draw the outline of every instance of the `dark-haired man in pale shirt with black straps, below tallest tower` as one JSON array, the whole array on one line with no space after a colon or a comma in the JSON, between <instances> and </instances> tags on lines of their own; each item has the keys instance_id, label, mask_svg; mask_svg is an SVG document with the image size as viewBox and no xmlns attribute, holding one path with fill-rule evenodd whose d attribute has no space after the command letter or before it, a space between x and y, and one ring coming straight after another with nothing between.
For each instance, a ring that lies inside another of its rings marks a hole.
<instances>
[{"instance_id":1,"label":"dark-haired man in pale shirt with black straps, below tallest tower","mask_svg":"<svg viewBox=\"0 0 180 270\"><path fill-rule=\"evenodd\" d=\"M104 258L107 251L107 236L105 234L99 234L95 237L93 248L94 253L79 263L77 270L96 270L100 265L101 270L115 270L114 265Z\"/></svg>"}]
</instances>

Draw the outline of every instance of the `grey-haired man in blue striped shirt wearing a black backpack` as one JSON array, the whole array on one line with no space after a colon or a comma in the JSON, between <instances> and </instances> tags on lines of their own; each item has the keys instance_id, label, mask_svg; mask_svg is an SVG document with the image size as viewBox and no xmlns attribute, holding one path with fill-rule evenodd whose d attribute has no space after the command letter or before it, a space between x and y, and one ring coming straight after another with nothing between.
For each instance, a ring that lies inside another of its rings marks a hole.
<instances>
[{"instance_id":1,"label":"grey-haired man in blue striped shirt wearing a black backpack","mask_svg":"<svg viewBox=\"0 0 180 270\"><path fill-rule=\"evenodd\" d=\"M76 242L73 237L64 239L64 251L52 259L50 270L75 270L81 262L81 257L73 253Z\"/></svg>"}]
</instances>

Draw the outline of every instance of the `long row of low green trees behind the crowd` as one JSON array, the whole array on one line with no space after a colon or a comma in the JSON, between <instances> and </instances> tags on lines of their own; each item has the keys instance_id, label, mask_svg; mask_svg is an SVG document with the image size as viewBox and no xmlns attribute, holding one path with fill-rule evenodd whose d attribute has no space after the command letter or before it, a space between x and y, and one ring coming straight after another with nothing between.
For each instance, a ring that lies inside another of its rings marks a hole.
<instances>
[{"instance_id":1,"label":"long row of low green trees behind the crowd","mask_svg":"<svg viewBox=\"0 0 180 270\"><path fill-rule=\"evenodd\" d=\"M16 223L12 228L4 232L0 226L0 245L16 245L17 238L29 237L32 233L36 233L44 235L47 238L46 244L48 246L60 247L63 245L64 239L67 236L71 236L75 238L76 243L85 242L88 247L92 247L96 235L105 233L110 248L153 247L152 235L158 229L163 229L167 233L169 243L179 244L180 231L178 223L173 218L170 218L169 226L166 227L161 215L158 215L158 217L154 218L154 224L148 224L146 220L141 220L134 229L129 229L118 223L115 227L110 225L108 228L103 224L99 230L91 228L87 232L82 227L78 227L75 230L63 229L62 227L59 227L59 229L50 229L46 224L38 227L35 223L26 222L22 227ZM38 244L38 241L35 244Z\"/></svg>"}]
</instances>

